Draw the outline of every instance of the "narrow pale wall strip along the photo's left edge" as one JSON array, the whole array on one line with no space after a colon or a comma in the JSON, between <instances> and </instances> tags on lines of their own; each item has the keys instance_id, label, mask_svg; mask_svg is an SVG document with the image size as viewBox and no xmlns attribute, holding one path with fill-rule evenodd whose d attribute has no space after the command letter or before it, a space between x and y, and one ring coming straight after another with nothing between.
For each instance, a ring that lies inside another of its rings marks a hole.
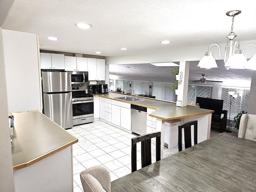
<instances>
[{"instance_id":1,"label":"narrow pale wall strip along the photo's left edge","mask_svg":"<svg viewBox=\"0 0 256 192\"><path fill-rule=\"evenodd\" d=\"M14 192L12 150L8 122L7 91L4 69L2 27L0 27L0 191Z\"/></svg>"}]
</instances>

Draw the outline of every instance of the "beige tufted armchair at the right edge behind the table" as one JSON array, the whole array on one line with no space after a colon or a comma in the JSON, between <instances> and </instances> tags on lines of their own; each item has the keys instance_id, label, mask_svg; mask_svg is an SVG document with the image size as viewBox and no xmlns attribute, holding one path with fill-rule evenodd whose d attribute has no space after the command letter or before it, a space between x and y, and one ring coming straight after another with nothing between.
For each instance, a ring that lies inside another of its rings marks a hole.
<instances>
[{"instance_id":1,"label":"beige tufted armchair at the right edge behind the table","mask_svg":"<svg viewBox=\"0 0 256 192\"><path fill-rule=\"evenodd\" d=\"M238 137L256 141L256 115L242 114Z\"/></svg>"}]
</instances>

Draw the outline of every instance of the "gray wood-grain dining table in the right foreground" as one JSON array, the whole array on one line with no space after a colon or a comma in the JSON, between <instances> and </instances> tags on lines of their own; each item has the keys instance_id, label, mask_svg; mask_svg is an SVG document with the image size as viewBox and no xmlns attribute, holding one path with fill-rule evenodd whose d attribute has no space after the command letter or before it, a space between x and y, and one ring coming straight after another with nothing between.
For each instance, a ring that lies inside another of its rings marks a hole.
<instances>
[{"instance_id":1,"label":"gray wood-grain dining table in the right foreground","mask_svg":"<svg viewBox=\"0 0 256 192\"><path fill-rule=\"evenodd\" d=\"M256 192L256 142L220 133L111 182L111 192Z\"/></svg>"}]
</instances>

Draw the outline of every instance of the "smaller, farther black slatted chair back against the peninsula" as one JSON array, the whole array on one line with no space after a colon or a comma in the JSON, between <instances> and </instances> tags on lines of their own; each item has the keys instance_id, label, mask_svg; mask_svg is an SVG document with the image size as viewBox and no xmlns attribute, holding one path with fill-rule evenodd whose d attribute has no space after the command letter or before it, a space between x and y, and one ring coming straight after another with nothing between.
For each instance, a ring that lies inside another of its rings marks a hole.
<instances>
[{"instance_id":1,"label":"smaller, farther black slatted chair back against the peninsula","mask_svg":"<svg viewBox=\"0 0 256 192\"><path fill-rule=\"evenodd\" d=\"M178 148L182 151L182 129L184 128L185 149L191 147L191 126L194 125L194 144L197 144L197 120L178 126Z\"/></svg>"}]
</instances>

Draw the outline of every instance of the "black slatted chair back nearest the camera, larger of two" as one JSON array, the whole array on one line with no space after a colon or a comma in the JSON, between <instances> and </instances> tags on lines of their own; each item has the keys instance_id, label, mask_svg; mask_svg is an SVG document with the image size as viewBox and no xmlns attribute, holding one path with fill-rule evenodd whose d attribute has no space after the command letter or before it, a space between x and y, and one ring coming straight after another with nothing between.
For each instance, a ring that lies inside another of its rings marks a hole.
<instances>
[{"instance_id":1,"label":"black slatted chair back nearest the camera, larger of two","mask_svg":"<svg viewBox=\"0 0 256 192\"><path fill-rule=\"evenodd\" d=\"M132 138L132 172L137 170L137 143L141 141L141 167L148 166L151 161L151 138L156 138L156 161L160 160L161 132L141 135Z\"/></svg>"}]
</instances>

